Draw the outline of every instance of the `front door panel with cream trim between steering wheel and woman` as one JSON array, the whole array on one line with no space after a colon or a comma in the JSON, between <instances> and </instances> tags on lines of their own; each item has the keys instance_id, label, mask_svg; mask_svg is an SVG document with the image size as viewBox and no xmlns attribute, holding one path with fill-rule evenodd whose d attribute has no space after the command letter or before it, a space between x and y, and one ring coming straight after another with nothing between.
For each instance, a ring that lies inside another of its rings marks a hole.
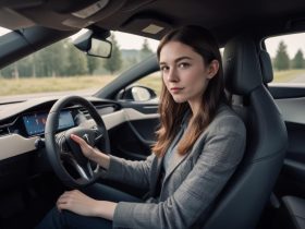
<instances>
[{"instance_id":1,"label":"front door panel with cream trim between steering wheel and woman","mask_svg":"<svg viewBox=\"0 0 305 229\"><path fill-rule=\"evenodd\" d=\"M112 154L127 159L145 159L156 141L159 114L156 103L122 103L126 121L110 131Z\"/></svg>"}]
</instances>

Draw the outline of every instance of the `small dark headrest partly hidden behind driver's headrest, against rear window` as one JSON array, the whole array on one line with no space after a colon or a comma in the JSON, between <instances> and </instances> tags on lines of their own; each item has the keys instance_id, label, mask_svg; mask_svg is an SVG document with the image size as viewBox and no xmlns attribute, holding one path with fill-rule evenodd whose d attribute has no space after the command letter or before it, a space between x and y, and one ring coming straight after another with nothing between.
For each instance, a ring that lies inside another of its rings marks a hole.
<instances>
[{"instance_id":1,"label":"small dark headrest partly hidden behind driver's headrest, against rear window","mask_svg":"<svg viewBox=\"0 0 305 229\"><path fill-rule=\"evenodd\" d=\"M268 84L271 81L273 81L273 71L272 71L271 59L267 51L265 50L259 51L259 62L261 68L263 82L265 84Z\"/></svg>"}]
</instances>

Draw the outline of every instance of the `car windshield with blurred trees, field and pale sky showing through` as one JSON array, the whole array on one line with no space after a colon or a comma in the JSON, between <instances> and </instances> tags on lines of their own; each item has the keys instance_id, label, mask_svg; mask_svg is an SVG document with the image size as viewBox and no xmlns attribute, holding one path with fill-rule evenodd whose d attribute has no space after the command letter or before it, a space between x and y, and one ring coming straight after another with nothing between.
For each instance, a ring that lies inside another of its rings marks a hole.
<instances>
[{"instance_id":1,"label":"car windshield with blurred trees, field and pale sky showing through","mask_svg":"<svg viewBox=\"0 0 305 229\"><path fill-rule=\"evenodd\" d=\"M0 35L9 33L0 28ZM80 32L78 34L82 34ZM93 95L120 73L151 56L157 40L111 33L110 59L86 56L73 35L0 70L0 103L49 95ZM1 41L2 36L0 37Z\"/></svg>"}]
</instances>

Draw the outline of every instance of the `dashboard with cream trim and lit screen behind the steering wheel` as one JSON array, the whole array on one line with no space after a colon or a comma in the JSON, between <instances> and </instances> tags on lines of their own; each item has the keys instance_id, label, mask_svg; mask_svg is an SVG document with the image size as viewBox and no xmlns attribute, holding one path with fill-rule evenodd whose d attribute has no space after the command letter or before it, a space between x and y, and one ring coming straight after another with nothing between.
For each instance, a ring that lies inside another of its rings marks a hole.
<instances>
[{"instance_id":1,"label":"dashboard with cream trim and lit screen behind the steering wheel","mask_svg":"<svg viewBox=\"0 0 305 229\"><path fill-rule=\"evenodd\" d=\"M102 118L106 117L108 126L124 120L120 104L97 98L88 100ZM46 149L39 146L38 140L45 138L49 110L56 101L53 98L39 98L0 105L0 191L25 182L41 171L49 172ZM59 113L58 131L78 125L91 128L95 122L81 105L66 104Z\"/></svg>"}]
</instances>

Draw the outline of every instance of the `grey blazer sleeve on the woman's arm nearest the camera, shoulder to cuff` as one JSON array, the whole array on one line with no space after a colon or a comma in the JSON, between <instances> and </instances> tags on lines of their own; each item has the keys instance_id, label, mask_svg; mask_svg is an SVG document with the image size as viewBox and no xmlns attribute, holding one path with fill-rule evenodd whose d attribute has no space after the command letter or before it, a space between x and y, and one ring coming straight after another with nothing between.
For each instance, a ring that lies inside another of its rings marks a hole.
<instances>
[{"instance_id":1,"label":"grey blazer sleeve on the woman's arm nearest the camera, shoulder to cuff","mask_svg":"<svg viewBox=\"0 0 305 229\"><path fill-rule=\"evenodd\" d=\"M164 202L117 205L114 228L185 229L202 217L242 159L245 126L237 117L225 117L209 131L193 169Z\"/></svg>"}]
</instances>

